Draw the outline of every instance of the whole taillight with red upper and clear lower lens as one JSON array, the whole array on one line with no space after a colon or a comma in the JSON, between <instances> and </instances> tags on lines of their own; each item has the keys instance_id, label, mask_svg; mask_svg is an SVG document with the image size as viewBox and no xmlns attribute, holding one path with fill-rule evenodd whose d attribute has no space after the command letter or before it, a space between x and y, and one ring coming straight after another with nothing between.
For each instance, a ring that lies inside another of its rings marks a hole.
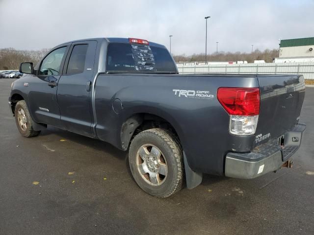
<instances>
[{"instance_id":1,"label":"whole taillight with red upper and clear lower lens","mask_svg":"<svg viewBox=\"0 0 314 235\"><path fill-rule=\"evenodd\" d=\"M231 134L255 134L260 114L259 88L221 87L217 91L217 99L230 115Z\"/></svg>"}]
</instances>

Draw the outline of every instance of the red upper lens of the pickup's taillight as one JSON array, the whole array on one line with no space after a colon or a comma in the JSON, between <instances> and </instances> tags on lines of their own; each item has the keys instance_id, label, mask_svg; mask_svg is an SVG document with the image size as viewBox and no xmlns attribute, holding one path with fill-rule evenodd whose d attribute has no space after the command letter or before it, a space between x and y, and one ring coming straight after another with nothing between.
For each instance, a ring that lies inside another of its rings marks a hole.
<instances>
[{"instance_id":1,"label":"red upper lens of the pickup's taillight","mask_svg":"<svg viewBox=\"0 0 314 235\"><path fill-rule=\"evenodd\" d=\"M260 89L221 87L217 99L230 115L253 116L260 114Z\"/></svg>"}]
</instances>

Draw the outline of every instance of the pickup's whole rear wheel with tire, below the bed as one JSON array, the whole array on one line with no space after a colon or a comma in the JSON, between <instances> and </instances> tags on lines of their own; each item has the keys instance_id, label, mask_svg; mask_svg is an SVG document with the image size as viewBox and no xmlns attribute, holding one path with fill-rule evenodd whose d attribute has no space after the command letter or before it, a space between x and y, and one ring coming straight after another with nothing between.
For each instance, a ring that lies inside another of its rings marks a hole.
<instances>
[{"instance_id":1,"label":"pickup's whole rear wheel with tire, below the bed","mask_svg":"<svg viewBox=\"0 0 314 235\"><path fill-rule=\"evenodd\" d=\"M182 188L182 149L172 133L154 128L136 135L129 150L131 173L145 192L168 197Z\"/></svg>"}]
</instances>

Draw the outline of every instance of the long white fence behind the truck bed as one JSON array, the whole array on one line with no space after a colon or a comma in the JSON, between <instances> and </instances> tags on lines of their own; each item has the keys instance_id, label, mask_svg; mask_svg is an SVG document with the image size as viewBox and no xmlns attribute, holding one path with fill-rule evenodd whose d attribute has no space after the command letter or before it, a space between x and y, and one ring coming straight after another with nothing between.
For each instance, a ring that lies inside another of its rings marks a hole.
<instances>
[{"instance_id":1,"label":"long white fence behind the truck bed","mask_svg":"<svg viewBox=\"0 0 314 235\"><path fill-rule=\"evenodd\" d=\"M177 66L179 73L302 74L305 79L314 79L314 62Z\"/></svg>"}]
</instances>

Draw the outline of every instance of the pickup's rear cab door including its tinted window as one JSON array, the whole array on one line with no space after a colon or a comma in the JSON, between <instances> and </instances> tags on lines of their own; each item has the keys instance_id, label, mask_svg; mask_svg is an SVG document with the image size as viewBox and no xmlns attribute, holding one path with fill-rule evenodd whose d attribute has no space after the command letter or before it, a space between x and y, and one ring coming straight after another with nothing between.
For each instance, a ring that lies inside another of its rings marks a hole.
<instances>
[{"instance_id":1,"label":"pickup's rear cab door including its tinted window","mask_svg":"<svg viewBox=\"0 0 314 235\"><path fill-rule=\"evenodd\" d=\"M58 81L62 128L84 136L93 136L91 88L96 47L97 41L73 43Z\"/></svg>"}]
</instances>

